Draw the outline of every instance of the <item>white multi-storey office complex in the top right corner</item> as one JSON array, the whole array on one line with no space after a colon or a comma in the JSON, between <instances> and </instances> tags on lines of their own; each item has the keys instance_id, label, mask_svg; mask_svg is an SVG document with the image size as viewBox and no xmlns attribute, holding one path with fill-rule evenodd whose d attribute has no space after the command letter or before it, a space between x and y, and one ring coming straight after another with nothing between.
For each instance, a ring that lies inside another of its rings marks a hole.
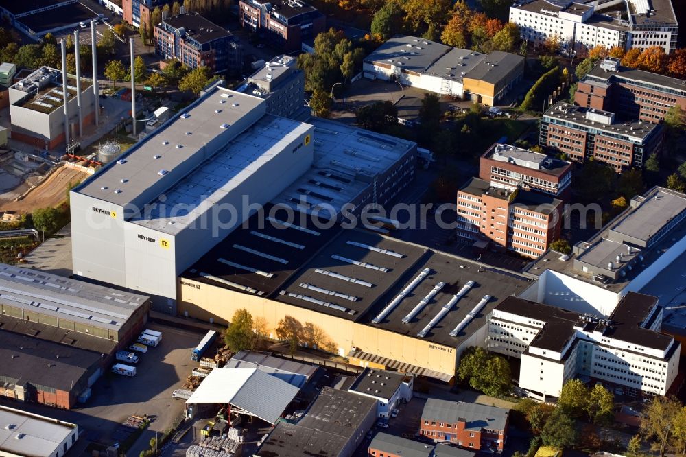
<instances>
[{"instance_id":1,"label":"white multi-storey office complex in the top right corner","mask_svg":"<svg viewBox=\"0 0 686 457\"><path fill-rule=\"evenodd\" d=\"M567 49L676 49L678 23L670 0L620 0L600 8L593 0L519 0L510 7L510 22L519 25L521 38L537 45L556 37Z\"/></svg>"}]
</instances>

